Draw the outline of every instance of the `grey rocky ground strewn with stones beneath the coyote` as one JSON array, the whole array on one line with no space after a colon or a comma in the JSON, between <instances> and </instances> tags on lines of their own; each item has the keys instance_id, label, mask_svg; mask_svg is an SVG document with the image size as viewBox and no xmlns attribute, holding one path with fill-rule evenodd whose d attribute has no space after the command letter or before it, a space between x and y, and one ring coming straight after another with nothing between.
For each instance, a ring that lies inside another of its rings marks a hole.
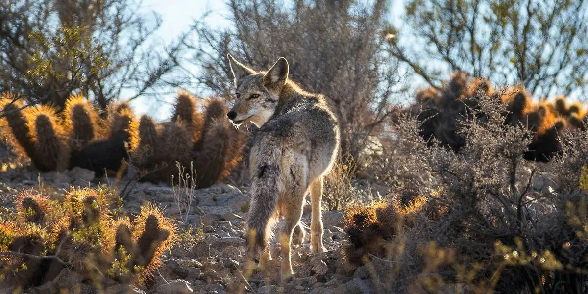
<instances>
[{"instance_id":1,"label":"grey rocky ground strewn with stones beneath the coyote","mask_svg":"<svg viewBox=\"0 0 588 294\"><path fill-rule=\"evenodd\" d=\"M106 181L103 179L102 181ZM110 181L113 183L113 181ZM58 196L69 186L97 185L93 172L73 169L66 173L32 171L10 171L0 176L1 205L11 207L14 196L20 189L43 189ZM129 288L112 285L109 294L118 293L371 293L367 269L355 269L345 262L341 250L345 233L341 228L342 212L325 212L326 253L311 255L309 234L306 240L292 250L295 279L289 283L279 280L279 245L272 241L273 260L265 272L253 272L245 279L245 239L242 239L248 197L243 191L230 185L220 184L196 190L191 209L179 208L173 188L152 183L116 184L123 197L126 212L136 215L146 202L155 202L166 208L166 214L178 219L183 229L199 228L198 242L182 240L171 253L163 258L163 266L155 273L148 286ZM185 220L185 222L182 222ZM303 221L310 223L310 206L305 206ZM278 223L278 227L281 223ZM183 243L182 243L183 242ZM62 272L53 282L46 283L29 293L54 294L64 285L83 282L75 273ZM86 289L86 288L81 288ZM91 292L87 287L86 293ZM9 289L6 289L9 290ZM0 290L0 293L2 290ZM11 292L6 292L11 293ZM82 292L83 293L83 292Z\"/></svg>"}]
</instances>

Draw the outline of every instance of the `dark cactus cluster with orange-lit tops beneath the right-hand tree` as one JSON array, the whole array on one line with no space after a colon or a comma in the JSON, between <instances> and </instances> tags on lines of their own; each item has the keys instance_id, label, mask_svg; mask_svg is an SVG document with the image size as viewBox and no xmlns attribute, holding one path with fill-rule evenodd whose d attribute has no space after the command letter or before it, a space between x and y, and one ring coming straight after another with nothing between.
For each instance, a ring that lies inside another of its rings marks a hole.
<instances>
[{"instance_id":1,"label":"dark cactus cluster with orange-lit tops beneath the right-hand tree","mask_svg":"<svg viewBox=\"0 0 588 294\"><path fill-rule=\"evenodd\" d=\"M490 98L505 105L502 113L506 125L523 125L533 134L529 151L524 158L547 162L561 152L557 139L564 129L582 129L588 126L586 108L581 103L567 103L559 96L552 102L534 103L522 86L496 91L485 79L470 79L462 73L454 73L445 88L423 89L416 93L415 103L405 112L412 113L420 122L420 135L429 145L441 146L459 152L466 144L460 134L466 119L487 121L480 111L480 100Z\"/></svg>"}]
</instances>

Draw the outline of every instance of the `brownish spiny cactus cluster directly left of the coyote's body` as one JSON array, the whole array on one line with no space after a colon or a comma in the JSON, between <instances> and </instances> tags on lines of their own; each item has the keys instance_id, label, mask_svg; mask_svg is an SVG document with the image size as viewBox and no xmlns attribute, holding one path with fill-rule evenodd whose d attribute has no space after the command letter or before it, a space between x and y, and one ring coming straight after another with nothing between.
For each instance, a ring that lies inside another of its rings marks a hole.
<instances>
[{"instance_id":1,"label":"brownish spiny cactus cluster directly left of the coyote's body","mask_svg":"<svg viewBox=\"0 0 588 294\"><path fill-rule=\"evenodd\" d=\"M146 115L139 119L139 142L131 163L144 181L178 179L176 163L193 166L198 188L221 181L239 163L245 143L245 135L225 118L226 112L220 99L209 99L201 107L190 93L180 91L171 121L155 123Z\"/></svg>"}]
</instances>

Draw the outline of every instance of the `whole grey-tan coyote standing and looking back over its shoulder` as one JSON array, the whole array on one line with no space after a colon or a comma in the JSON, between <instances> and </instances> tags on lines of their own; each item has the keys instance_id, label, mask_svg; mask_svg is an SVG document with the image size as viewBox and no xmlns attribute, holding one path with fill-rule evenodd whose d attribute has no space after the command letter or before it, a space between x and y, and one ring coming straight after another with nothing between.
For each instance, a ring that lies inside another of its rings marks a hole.
<instances>
[{"instance_id":1,"label":"whole grey-tan coyote standing and looking back over its shoulder","mask_svg":"<svg viewBox=\"0 0 588 294\"><path fill-rule=\"evenodd\" d=\"M271 256L272 226L285 217L280 233L280 278L292 278L290 245L300 245L300 223L306 192L310 191L312 220L310 249L325 252L321 199L323 177L339 149L339 126L323 95L304 91L288 79L289 65L280 58L268 71L256 72L227 55L236 88L235 106L227 113L235 125L259 127L249 157L250 208L247 218L249 258L260 250L260 268Z\"/></svg>"}]
</instances>

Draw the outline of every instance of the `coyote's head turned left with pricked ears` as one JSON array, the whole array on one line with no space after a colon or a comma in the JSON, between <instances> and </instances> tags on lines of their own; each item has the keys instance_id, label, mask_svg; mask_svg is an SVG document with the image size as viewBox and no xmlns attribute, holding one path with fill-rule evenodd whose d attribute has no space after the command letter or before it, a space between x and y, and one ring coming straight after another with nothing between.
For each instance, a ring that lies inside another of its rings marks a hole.
<instances>
[{"instance_id":1,"label":"coyote's head turned left with pricked ears","mask_svg":"<svg viewBox=\"0 0 588 294\"><path fill-rule=\"evenodd\" d=\"M252 122L262 126L276 110L280 92L288 79L288 61L282 57L268 71L255 72L230 54L227 58L237 98L227 116L235 125Z\"/></svg>"}]
</instances>

